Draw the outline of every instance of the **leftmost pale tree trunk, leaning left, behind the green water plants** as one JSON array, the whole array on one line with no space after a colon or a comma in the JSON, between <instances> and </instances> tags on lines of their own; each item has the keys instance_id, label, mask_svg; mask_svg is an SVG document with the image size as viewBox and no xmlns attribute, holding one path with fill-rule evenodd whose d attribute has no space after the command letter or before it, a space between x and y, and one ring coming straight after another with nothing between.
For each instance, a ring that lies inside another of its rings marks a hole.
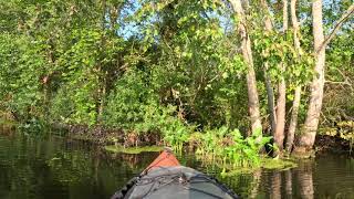
<instances>
[{"instance_id":1,"label":"leftmost pale tree trunk, leaning left, behind the green water plants","mask_svg":"<svg viewBox=\"0 0 354 199\"><path fill-rule=\"evenodd\" d=\"M259 100L258 100L258 91L257 91L257 81L253 69L253 57L251 50L251 41L247 32L246 28L246 17L244 11L240 0L230 0L232 4L233 11L239 19L238 30L241 35L241 49L244 62L248 67L247 72L247 88L248 88L248 107L251 119L251 130L252 133L262 129L260 111L259 111Z\"/></svg>"}]
</instances>

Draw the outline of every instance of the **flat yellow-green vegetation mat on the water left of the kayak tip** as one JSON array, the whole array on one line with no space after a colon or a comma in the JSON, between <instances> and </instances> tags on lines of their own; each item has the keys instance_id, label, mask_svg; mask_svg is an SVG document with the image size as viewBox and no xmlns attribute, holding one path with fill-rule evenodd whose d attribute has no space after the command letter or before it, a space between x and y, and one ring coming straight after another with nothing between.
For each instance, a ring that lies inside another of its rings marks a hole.
<instances>
[{"instance_id":1,"label":"flat yellow-green vegetation mat on the water left of the kayak tip","mask_svg":"<svg viewBox=\"0 0 354 199\"><path fill-rule=\"evenodd\" d=\"M123 153L123 154L140 154L144 151L162 151L164 147L162 146L143 146L143 147L123 147L121 145L110 145L104 147L106 150L112 153Z\"/></svg>"}]
</instances>

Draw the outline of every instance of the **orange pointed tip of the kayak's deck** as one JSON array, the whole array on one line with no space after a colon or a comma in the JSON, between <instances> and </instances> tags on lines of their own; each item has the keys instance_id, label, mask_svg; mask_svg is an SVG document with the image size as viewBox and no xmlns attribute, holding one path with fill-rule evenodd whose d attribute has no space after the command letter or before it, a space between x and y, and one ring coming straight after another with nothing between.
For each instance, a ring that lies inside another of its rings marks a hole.
<instances>
[{"instance_id":1,"label":"orange pointed tip of the kayak's deck","mask_svg":"<svg viewBox=\"0 0 354 199\"><path fill-rule=\"evenodd\" d=\"M165 149L146 169L143 174L146 174L155 168L160 167L178 167L180 166L176 156L168 149Z\"/></svg>"}]
</instances>

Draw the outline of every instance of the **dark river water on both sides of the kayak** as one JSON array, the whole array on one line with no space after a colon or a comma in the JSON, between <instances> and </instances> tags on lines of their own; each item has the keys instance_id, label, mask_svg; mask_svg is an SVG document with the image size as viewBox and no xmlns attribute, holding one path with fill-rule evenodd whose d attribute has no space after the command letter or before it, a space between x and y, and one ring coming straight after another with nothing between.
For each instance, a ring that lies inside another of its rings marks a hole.
<instances>
[{"instance_id":1,"label":"dark river water on both sides of the kayak","mask_svg":"<svg viewBox=\"0 0 354 199\"><path fill-rule=\"evenodd\" d=\"M33 137L0 129L0 199L110 198L157 153L111 154L60 136ZM261 170L221 178L192 155L183 165L217 177L242 198L354 199L354 159L327 155L290 170Z\"/></svg>"}]
</instances>

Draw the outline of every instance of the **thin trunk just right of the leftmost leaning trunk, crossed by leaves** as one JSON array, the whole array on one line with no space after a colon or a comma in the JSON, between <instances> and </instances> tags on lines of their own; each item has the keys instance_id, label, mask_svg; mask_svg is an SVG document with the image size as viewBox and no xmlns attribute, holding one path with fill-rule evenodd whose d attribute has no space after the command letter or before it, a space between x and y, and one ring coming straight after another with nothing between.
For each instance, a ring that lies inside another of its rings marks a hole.
<instances>
[{"instance_id":1,"label":"thin trunk just right of the leftmost leaning trunk, crossed by leaves","mask_svg":"<svg viewBox=\"0 0 354 199\"><path fill-rule=\"evenodd\" d=\"M270 19L270 13L268 9L268 4L266 0L261 0L261 6L263 7L263 11L266 12L266 31L271 32L273 30L272 21ZM277 114L275 114L275 107L274 107L274 92L273 92L273 85L272 82L268 75L268 62L264 62L264 78L266 78L266 87L267 87L267 100L268 100L268 112L270 116L270 124L271 124L271 133L272 135L275 132L275 125L277 125Z\"/></svg>"}]
</instances>

